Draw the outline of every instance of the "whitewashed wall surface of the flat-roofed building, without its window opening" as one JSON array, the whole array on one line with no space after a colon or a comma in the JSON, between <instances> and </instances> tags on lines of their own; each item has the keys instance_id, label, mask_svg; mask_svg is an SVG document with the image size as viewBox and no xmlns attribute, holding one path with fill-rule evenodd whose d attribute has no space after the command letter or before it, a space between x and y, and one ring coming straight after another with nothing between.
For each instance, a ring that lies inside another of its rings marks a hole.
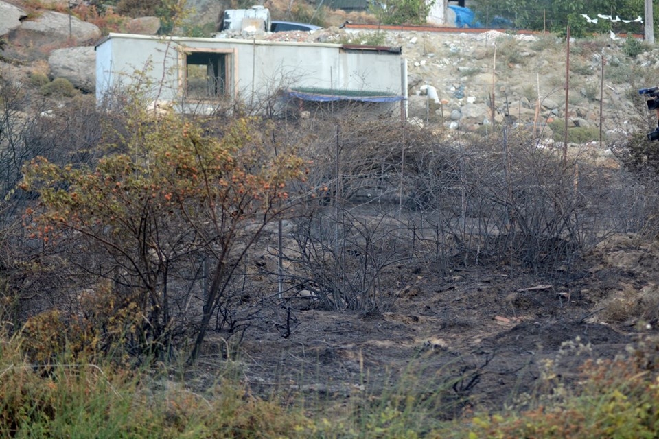
<instances>
[{"instance_id":1,"label":"whitewashed wall surface of the flat-roofed building, without its window opening","mask_svg":"<svg viewBox=\"0 0 659 439\"><path fill-rule=\"evenodd\" d=\"M119 84L135 83L135 72L143 71L150 80L163 82L154 87L154 99L181 99L179 65L186 48L233 50L235 93L242 99L259 99L286 86L403 94L400 54L345 51L321 43L110 34L96 48L97 97Z\"/></svg>"}]
</instances>

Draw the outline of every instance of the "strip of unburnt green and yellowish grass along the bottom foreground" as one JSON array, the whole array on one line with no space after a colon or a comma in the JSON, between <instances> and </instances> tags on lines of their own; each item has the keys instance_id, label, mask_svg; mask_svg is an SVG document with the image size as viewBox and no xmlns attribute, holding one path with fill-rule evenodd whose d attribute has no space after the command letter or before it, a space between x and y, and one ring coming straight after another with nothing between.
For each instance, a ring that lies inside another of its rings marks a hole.
<instances>
[{"instance_id":1,"label":"strip of unburnt green and yellowish grass along the bottom foreground","mask_svg":"<svg viewBox=\"0 0 659 439\"><path fill-rule=\"evenodd\" d=\"M67 346L29 363L25 349L38 340L8 333L2 340L3 437L93 431L99 438L638 438L654 437L659 422L657 341L650 339L629 346L626 357L586 360L577 382L559 373L559 356L588 357L590 346L566 342L545 362L537 394L520 395L505 412L463 410L450 422L440 419L459 408L451 405L459 401L443 397L450 383L429 383L415 361L382 392L356 386L338 406L322 399L301 403L301 395L286 391L259 399L231 361L218 362L213 382L195 392L172 377L199 370L130 369L93 355L72 357Z\"/></svg>"}]
</instances>

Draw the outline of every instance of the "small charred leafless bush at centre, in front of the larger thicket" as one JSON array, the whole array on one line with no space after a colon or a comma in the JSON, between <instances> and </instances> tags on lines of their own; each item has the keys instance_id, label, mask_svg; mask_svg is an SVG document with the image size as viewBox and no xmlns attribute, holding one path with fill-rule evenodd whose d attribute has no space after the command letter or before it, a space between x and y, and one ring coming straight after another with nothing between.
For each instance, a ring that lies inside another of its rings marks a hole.
<instances>
[{"instance_id":1,"label":"small charred leafless bush at centre, in front of the larger thicket","mask_svg":"<svg viewBox=\"0 0 659 439\"><path fill-rule=\"evenodd\" d=\"M290 274L330 309L386 311L394 297L386 270L409 257L402 224L364 209L319 209L297 222Z\"/></svg>"}]
</instances>

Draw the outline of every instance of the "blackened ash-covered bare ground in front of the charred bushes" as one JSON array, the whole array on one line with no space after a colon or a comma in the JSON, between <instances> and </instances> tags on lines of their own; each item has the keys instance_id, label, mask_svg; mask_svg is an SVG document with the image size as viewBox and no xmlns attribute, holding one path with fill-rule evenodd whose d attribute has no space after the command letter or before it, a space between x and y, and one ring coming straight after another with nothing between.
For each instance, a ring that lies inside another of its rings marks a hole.
<instances>
[{"instance_id":1,"label":"blackened ash-covered bare ground in front of the charred bushes","mask_svg":"<svg viewBox=\"0 0 659 439\"><path fill-rule=\"evenodd\" d=\"M404 385L404 392L443 392L445 416L500 410L540 391L547 364L576 377L586 359L613 358L656 334L656 318L641 325L638 316L611 311L627 289L656 283L648 264L658 249L635 242L609 239L584 257L580 276L555 285L518 268L511 274L507 265L442 276L431 263L401 264L384 282L388 311L329 311L300 298L260 302L242 342L210 334L199 366L213 370L233 346L246 388L259 396L346 404ZM209 384L203 374L197 379L193 385Z\"/></svg>"}]
</instances>

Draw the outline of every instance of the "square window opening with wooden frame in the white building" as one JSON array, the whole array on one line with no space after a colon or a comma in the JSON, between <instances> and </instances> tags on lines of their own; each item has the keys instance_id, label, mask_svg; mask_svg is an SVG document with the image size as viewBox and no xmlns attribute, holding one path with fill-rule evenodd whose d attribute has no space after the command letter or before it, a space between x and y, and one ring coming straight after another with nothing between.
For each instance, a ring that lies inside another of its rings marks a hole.
<instances>
[{"instance_id":1,"label":"square window opening with wooden frame in the white building","mask_svg":"<svg viewBox=\"0 0 659 439\"><path fill-rule=\"evenodd\" d=\"M213 99L229 93L229 54L193 52L185 58L185 95Z\"/></svg>"}]
</instances>

